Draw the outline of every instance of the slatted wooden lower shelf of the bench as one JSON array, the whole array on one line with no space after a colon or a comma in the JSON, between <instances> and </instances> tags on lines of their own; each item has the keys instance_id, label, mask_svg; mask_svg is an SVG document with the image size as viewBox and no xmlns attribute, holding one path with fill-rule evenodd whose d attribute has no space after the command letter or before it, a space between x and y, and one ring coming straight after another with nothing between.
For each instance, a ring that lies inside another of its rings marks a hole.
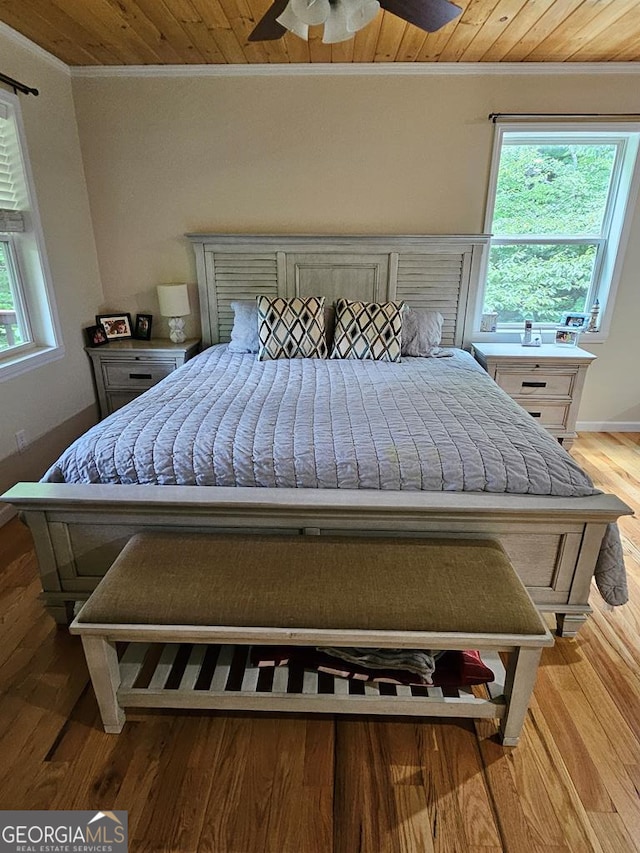
<instances>
[{"instance_id":1,"label":"slatted wooden lower shelf of the bench","mask_svg":"<svg viewBox=\"0 0 640 853\"><path fill-rule=\"evenodd\" d=\"M505 670L483 653L496 680L470 687L409 687L305 670L257 667L246 645L129 643L120 658L118 704L137 708L306 711L438 717L505 715ZM477 695L485 693L485 696Z\"/></svg>"}]
</instances>

